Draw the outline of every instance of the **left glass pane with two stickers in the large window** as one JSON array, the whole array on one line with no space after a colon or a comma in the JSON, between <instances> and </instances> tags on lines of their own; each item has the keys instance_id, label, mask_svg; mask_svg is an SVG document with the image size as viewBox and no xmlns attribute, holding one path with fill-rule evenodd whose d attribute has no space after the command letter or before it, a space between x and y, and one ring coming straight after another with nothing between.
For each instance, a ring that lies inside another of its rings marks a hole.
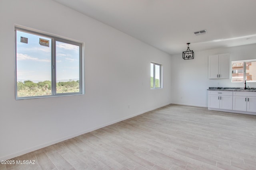
<instances>
[{"instance_id":1,"label":"left glass pane with two stickers in the large window","mask_svg":"<svg viewBox=\"0 0 256 170\"><path fill-rule=\"evenodd\" d=\"M18 30L16 39L17 97L51 95L52 39ZM48 40L49 47L39 39Z\"/></svg>"}]
</instances>

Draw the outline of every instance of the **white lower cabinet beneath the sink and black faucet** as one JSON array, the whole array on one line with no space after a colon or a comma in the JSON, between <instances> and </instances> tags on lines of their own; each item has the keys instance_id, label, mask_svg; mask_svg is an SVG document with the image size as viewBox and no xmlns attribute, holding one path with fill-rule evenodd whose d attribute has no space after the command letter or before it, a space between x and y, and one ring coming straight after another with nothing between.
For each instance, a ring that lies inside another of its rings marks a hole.
<instances>
[{"instance_id":1,"label":"white lower cabinet beneath the sink and black faucet","mask_svg":"<svg viewBox=\"0 0 256 170\"><path fill-rule=\"evenodd\" d=\"M233 110L256 112L256 92L234 92Z\"/></svg>"}]
</instances>

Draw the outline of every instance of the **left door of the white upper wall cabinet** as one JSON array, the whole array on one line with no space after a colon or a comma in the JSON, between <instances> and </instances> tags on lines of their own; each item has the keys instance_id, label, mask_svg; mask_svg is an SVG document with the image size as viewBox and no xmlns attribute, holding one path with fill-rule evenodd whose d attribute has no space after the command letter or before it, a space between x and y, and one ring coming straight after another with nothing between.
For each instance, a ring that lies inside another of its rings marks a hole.
<instances>
[{"instance_id":1,"label":"left door of the white upper wall cabinet","mask_svg":"<svg viewBox=\"0 0 256 170\"><path fill-rule=\"evenodd\" d=\"M214 79L218 78L219 75L219 55L209 55L208 61L208 78Z\"/></svg>"}]
</instances>

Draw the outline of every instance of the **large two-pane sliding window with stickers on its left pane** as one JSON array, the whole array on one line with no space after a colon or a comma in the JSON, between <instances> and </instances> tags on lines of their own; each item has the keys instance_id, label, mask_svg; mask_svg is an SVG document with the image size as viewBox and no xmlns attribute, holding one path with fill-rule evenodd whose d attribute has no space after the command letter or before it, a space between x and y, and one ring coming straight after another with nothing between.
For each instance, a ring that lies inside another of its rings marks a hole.
<instances>
[{"instance_id":1,"label":"large two-pane sliding window with stickers on its left pane","mask_svg":"<svg viewBox=\"0 0 256 170\"><path fill-rule=\"evenodd\" d=\"M16 28L16 99L82 94L82 44Z\"/></svg>"}]
</instances>

